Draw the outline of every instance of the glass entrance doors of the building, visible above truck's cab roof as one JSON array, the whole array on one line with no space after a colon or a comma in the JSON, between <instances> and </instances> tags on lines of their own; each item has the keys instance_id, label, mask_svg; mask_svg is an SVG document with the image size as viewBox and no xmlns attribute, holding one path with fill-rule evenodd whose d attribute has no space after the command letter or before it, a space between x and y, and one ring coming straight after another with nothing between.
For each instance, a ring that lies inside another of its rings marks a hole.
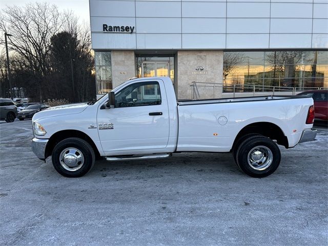
<instances>
[{"instance_id":1,"label":"glass entrance doors of the building, visible above truck's cab roof","mask_svg":"<svg viewBox=\"0 0 328 246\"><path fill-rule=\"evenodd\" d=\"M168 61L142 61L142 77L168 77Z\"/></svg>"}]
</instances>

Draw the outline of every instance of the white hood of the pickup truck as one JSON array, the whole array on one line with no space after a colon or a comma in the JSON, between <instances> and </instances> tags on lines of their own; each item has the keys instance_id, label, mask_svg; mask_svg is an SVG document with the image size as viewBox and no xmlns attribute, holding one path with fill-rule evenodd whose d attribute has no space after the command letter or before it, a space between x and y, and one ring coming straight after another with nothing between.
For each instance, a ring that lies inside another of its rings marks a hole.
<instances>
[{"instance_id":1,"label":"white hood of the pickup truck","mask_svg":"<svg viewBox=\"0 0 328 246\"><path fill-rule=\"evenodd\" d=\"M68 104L56 107L51 107L46 110L40 111L33 116L33 121L53 116L66 115L66 114L78 114L83 112L88 107L87 103L83 104Z\"/></svg>"}]
</instances>

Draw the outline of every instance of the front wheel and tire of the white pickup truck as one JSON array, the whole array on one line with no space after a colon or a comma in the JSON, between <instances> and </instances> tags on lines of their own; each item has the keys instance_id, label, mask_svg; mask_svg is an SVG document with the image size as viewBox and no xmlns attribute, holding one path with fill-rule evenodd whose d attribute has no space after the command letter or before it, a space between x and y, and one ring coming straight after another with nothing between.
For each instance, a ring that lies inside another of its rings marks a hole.
<instances>
[{"instance_id":1,"label":"front wheel and tire of the white pickup truck","mask_svg":"<svg viewBox=\"0 0 328 246\"><path fill-rule=\"evenodd\" d=\"M52 151L52 165L65 177L81 177L88 173L95 162L91 145L76 137L60 141Z\"/></svg>"}]
</instances>

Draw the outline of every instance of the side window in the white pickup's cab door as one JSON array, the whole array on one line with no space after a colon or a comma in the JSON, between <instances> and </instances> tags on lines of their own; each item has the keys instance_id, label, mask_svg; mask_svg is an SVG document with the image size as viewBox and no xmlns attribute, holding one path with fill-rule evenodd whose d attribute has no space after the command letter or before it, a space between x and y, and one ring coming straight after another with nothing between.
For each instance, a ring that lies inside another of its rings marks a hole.
<instances>
[{"instance_id":1,"label":"side window in the white pickup's cab door","mask_svg":"<svg viewBox=\"0 0 328 246\"><path fill-rule=\"evenodd\" d=\"M115 94L115 108L161 104L158 82L135 83Z\"/></svg>"}]
</instances>

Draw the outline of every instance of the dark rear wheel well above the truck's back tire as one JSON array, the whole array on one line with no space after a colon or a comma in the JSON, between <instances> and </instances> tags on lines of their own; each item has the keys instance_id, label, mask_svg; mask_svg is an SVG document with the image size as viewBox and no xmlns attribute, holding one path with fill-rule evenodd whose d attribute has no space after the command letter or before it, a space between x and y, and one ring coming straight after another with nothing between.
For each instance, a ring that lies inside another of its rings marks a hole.
<instances>
[{"instance_id":1,"label":"dark rear wheel well above the truck's back tire","mask_svg":"<svg viewBox=\"0 0 328 246\"><path fill-rule=\"evenodd\" d=\"M269 137L272 140L276 140L278 145L282 145L288 148L288 138L283 134L283 131L277 125L270 122L256 122L248 126L245 126L240 130L235 138L232 149L234 149L238 139L249 133L257 133L265 137Z\"/></svg>"}]
</instances>

